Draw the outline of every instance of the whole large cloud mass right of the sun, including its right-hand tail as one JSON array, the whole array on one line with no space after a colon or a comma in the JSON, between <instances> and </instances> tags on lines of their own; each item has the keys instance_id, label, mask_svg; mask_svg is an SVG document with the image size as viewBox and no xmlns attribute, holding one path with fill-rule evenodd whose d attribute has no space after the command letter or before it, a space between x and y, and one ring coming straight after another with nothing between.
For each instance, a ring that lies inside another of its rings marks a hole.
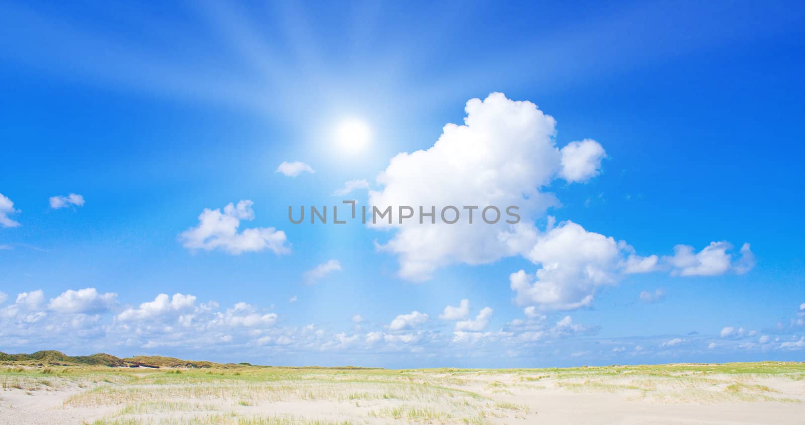
<instances>
[{"instance_id":1,"label":"whole large cloud mass right of the sun, including its right-hand tail","mask_svg":"<svg viewBox=\"0 0 805 425\"><path fill-rule=\"evenodd\" d=\"M431 224L427 217L422 217L427 221L423 224L418 219L369 224L394 230L378 248L397 256L398 274L404 279L430 279L434 270L456 262L475 265L520 255L537 269L510 275L516 303L567 310L590 305L597 288L616 284L627 274L745 273L752 268L748 245L734 263L726 242L700 253L677 246L675 255L661 259L656 254L638 255L625 241L589 232L572 221L554 227L549 217L547 229L541 231L533 224L535 219L558 204L543 190L555 179L584 182L597 175L604 148L584 139L559 149L554 118L529 101L512 101L502 93L491 93L483 101L471 99L464 110L464 125L444 126L440 138L426 150L394 156L377 176L379 189L369 191L369 204L379 208L413 205L427 213L432 205L438 217L445 205L469 207L460 209L452 225L438 219ZM482 223L480 211L487 205L517 205L521 220ZM470 225L472 212L474 225ZM414 214L421 215L416 209Z\"/></svg>"}]
</instances>

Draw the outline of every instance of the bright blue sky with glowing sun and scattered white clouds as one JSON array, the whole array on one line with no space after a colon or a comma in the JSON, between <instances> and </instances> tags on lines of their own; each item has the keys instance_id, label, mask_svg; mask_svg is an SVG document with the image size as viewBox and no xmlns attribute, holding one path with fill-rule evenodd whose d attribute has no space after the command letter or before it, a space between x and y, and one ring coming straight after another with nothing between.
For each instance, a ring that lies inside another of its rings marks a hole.
<instances>
[{"instance_id":1,"label":"bright blue sky with glowing sun and scattered white clouds","mask_svg":"<svg viewBox=\"0 0 805 425\"><path fill-rule=\"evenodd\" d=\"M0 351L801 361L803 14L2 2ZM356 120L361 149L339 138ZM295 162L314 172L278 171ZM288 221L345 199L506 201L530 220Z\"/></svg>"}]
</instances>

